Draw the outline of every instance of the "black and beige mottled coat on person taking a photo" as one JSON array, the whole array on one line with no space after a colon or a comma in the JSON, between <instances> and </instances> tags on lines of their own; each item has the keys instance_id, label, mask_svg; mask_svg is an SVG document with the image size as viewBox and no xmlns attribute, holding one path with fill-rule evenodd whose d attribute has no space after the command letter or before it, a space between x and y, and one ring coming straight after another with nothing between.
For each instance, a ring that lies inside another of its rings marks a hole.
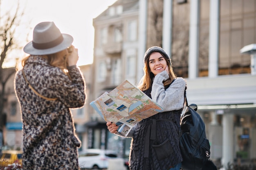
<instances>
[{"instance_id":1,"label":"black and beige mottled coat on person taking a photo","mask_svg":"<svg viewBox=\"0 0 256 170\"><path fill-rule=\"evenodd\" d=\"M20 102L23 133L23 169L78 170L77 147L70 108L85 103L85 82L79 68L69 70L69 79L58 67L40 56L30 56L23 68L27 80L43 99L29 88L22 71L15 77Z\"/></svg>"}]
</instances>

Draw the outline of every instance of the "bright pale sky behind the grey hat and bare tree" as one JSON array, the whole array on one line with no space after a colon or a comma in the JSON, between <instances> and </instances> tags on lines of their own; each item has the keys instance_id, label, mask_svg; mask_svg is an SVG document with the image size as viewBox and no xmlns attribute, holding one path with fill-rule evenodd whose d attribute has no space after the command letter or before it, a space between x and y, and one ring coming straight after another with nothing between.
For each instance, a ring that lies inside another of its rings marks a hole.
<instances>
[{"instance_id":1,"label":"bright pale sky behind the grey hat and bare tree","mask_svg":"<svg viewBox=\"0 0 256 170\"><path fill-rule=\"evenodd\" d=\"M18 2L24 9L21 24L16 30L18 44L24 47L33 39L33 29L36 24L53 21L61 33L67 33L74 38L73 45L78 49L77 65L92 64L94 48L93 18L99 16L117 0L0 0L0 13L14 11ZM1 22L1 21L0 21ZM2 24L2 23L1 23ZM28 37L27 37L28 35ZM22 49L13 51L6 67L15 66L15 58L23 58L28 54Z\"/></svg>"}]
</instances>

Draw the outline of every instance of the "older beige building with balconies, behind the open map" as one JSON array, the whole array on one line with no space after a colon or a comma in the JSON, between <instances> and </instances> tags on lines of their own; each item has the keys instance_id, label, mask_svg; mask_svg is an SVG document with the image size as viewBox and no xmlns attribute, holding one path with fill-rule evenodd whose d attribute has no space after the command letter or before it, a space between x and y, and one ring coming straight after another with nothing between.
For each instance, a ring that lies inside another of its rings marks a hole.
<instances>
[{"instance_id":1,"label":"older beige building with balconies, behind the open map","mask_svg":"<svg viewBox=\"0 0 256 170\"><path fill-rule=\"evenodd\" d=\"M97 99L104 92L112 91L128 79L138 79L138 27L139 0L117 0L93 20L94 61L92 64L93 87L91 96ZM108 132L106 121L91 110L91 122L86 124L88 148L119 150L121 157L129 155L130 139Z\"/></svg>"}]
</instances>

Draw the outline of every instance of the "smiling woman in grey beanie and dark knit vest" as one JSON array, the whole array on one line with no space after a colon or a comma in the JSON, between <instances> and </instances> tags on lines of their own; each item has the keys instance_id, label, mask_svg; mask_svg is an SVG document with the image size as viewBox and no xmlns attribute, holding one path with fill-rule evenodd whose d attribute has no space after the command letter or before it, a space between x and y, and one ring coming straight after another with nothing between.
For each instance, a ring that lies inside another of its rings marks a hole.
<instances>
[{"instance_id":1,"label":"smiling woman in grey beanie and dark knit vest","mask_svg":"<svg viewBox=\"0 0 256 170\"><path fill-rule=\"evenodd\" d=\"M144 76L138 88L164 108L132 127L125 137L132 137L129 166L132 170L179 170L182 155L178 128L184 106L186 81L176 77L171 59L159 46L150 47L144 55ZM107 122L111 133L124 137L113 122ZM151 134L151 135L150 135Z\"/></svg>"}]
</instances>

